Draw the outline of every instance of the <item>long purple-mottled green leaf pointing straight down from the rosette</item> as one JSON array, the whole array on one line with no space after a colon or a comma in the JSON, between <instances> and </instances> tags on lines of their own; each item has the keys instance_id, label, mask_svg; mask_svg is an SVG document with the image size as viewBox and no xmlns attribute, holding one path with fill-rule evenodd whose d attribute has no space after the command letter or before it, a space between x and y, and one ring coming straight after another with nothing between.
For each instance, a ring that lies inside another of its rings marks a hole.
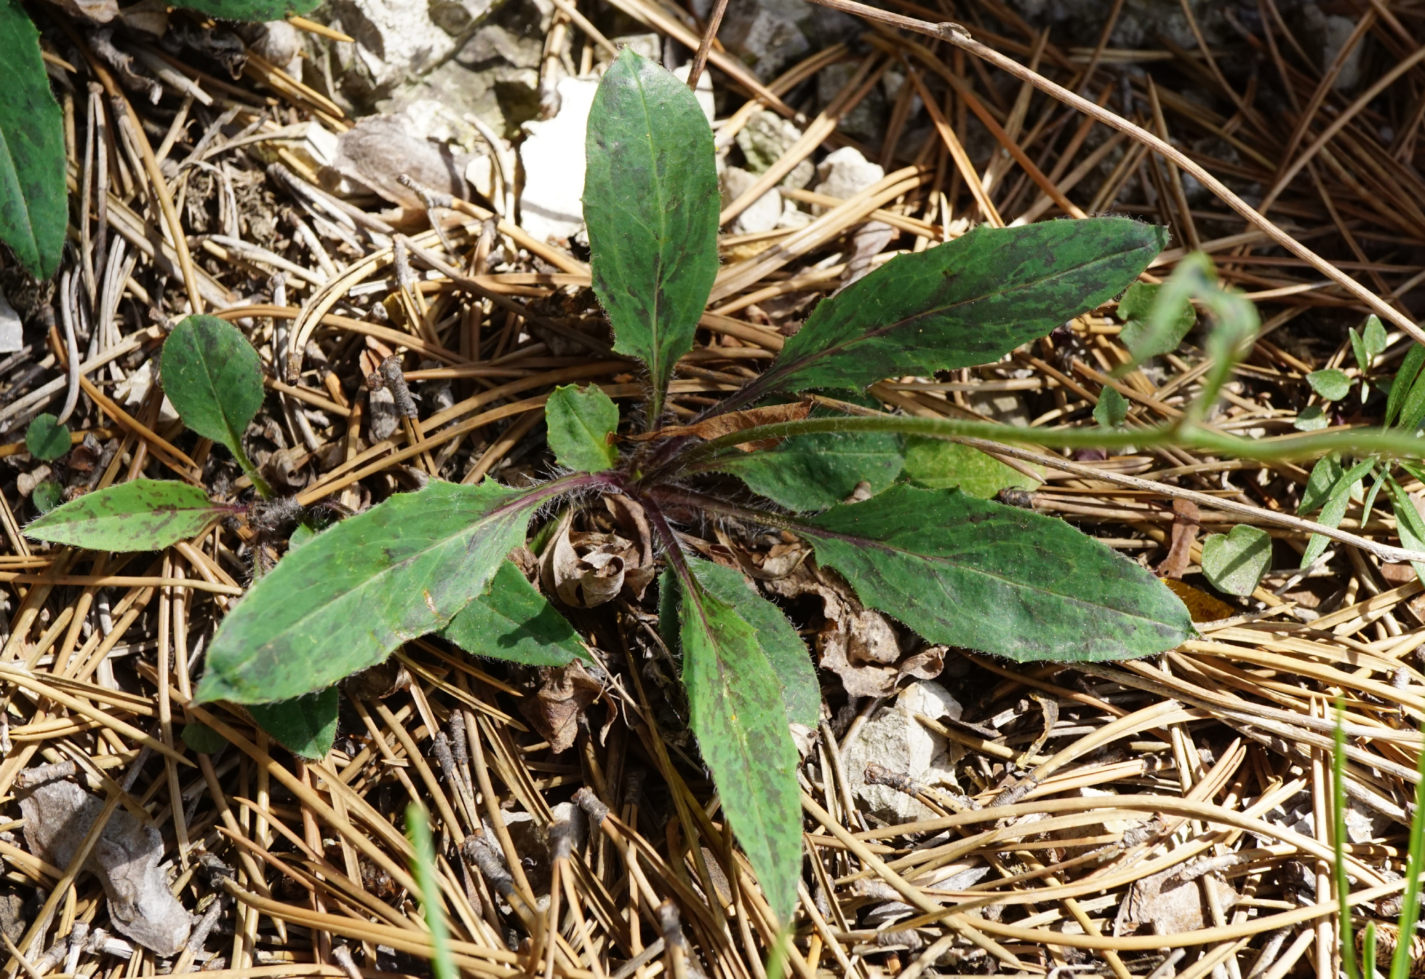
<instances>
[{"instance_id":1,"label":"long purple-mottled green leaf pointing straight down from the rosette","mask_svg":"<svg viewBox=\"0 0 1425 979\"><path fill-rule=\"evenodd\" d=\"M690 727L722 811L782 923L801 879L797 747L758 630L697 577L683 581L680 640Z\"/></svg>"}]
</instances>

